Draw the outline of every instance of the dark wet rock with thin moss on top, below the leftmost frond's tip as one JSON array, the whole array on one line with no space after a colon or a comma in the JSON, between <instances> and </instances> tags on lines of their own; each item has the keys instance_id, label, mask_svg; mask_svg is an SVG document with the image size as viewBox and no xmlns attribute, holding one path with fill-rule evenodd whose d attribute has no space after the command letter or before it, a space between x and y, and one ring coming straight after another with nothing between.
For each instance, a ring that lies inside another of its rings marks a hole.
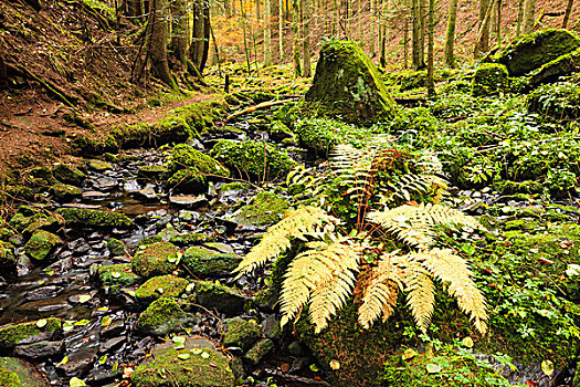
<instances>
[{"instance_id":1,"label":"dark wet rock with thin moss on top, below the leftmost frond's tip","mask_svg":"<svg viewBox=\"0 0 580 387\"><path fill-rule=\"evenodd\" d=\"M215 308L226 315L242 313L250 301L239 290L209 281L198 281L194 287L196 303L207 308Z\"/></svg>"}]
</instances>

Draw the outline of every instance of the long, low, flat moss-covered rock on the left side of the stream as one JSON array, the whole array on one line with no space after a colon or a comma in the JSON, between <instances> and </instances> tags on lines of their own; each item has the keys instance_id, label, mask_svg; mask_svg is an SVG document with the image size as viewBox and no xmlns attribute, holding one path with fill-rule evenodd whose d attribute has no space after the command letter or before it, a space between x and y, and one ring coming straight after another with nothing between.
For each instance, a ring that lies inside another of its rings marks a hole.
<instances>
[{"instance_id":1,"label":"long, low, flat moss-covered rock on the left side of the stream","mask_svg":"<svg viewBox=\"0 0 580 387\"><path fill-rule=\"evenodd\" d=\"M82 226L95 228L128 228L131 220L124 213L91 210L86 208L60 208L56 213L61 215L67 226Z\"/></svg>"}]
</instances>

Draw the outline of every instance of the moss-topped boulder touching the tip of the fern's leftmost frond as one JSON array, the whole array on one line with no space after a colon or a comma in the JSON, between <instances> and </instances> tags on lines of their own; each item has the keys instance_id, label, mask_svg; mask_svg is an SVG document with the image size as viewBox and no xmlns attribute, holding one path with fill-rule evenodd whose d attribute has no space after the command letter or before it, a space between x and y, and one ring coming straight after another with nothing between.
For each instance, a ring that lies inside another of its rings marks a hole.
<instances>
[{"instance_id":1,"label":"moss-topped boulder touching the tip of the fern's leftmost frond","mask_svg":"<svg viewBox=\"0 0 580 387\"><path fill-rule=\"evenodd\" d=\"M188 273L196 276L230 275L238 268L242 258L236 254L223 254L203 248L191 247L186 250L181 264Z\"/></svg>"}]
</instances>

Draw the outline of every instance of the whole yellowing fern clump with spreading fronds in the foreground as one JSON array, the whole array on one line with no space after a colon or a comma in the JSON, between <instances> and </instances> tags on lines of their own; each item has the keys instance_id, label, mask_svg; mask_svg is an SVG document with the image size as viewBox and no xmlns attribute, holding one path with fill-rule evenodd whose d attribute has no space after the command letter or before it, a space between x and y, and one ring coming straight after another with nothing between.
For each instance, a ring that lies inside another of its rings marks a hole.
<instances>
[{"instance_id":1,"label":"whole yellowing fern clump with spreading fronds in the foreground","mask_svg":"<svg viewBox=\"0 0 580 387\"><path fill-rule=\"evenodd\" d=\"M425 333L439 281L485 334L486 301L471 279L466 261L454 250L435 245L440 224L482 226L439 203L446 186L436 175L440 167L432 155L420 160L423 167L397 174L393 166L409 161L407 156L383 140L365 149L338 146L328 177L304 172L299 172L303 178L291 177L302 185L306 181L309 188L303 191L316 199L287 211L238 268L241 274L252 272L302 245L284 274L282 325L297 318L308 305L310 322L320 332L350 299L360 279L360 325L368 328L379 317L387 321L399 294L404 293L413 318ZM356 213L355 222L333 212L336 202L329 206L325 201L325 184L342 188L342 197ZM431 197L432 202L419 205L412 200L416 197Z\"/></svg>"}]
</instances>

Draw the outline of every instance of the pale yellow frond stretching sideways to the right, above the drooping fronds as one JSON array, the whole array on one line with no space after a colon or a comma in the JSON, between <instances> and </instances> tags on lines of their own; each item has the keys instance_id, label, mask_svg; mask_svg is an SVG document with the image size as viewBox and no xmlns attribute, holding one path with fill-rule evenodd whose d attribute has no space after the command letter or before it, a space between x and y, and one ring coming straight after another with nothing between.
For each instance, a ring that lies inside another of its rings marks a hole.
<instances>
[{"instance_id":1,"label":"pale yellow frond stretching sideways to the right, above the drooping fronds","mask_svg":"<svg viewBox=\"0 0 580 387\"><path fill-rule=\"evenodd\" d=\"M460 210L441 205L399 206L384 211L373 211L367 219L382 226L405 242L428 248L433 243L436 224L463 224L483 229L479 222Z\"/></svg>"}]
</instances>

